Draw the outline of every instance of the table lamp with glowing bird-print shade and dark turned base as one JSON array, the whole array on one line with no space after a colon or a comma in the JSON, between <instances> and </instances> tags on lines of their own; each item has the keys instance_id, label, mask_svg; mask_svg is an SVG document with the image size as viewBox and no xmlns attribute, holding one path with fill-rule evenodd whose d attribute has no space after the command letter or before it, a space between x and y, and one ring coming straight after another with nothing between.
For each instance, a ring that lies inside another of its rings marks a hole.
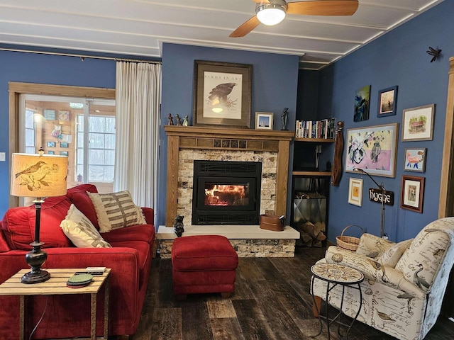
<instances>
[{"instance_id":1,"label":"table lamp with glowing bird-print shade and dark turned base","mask_svg":"<svg viewBox=\"0 0 454 340\"><path fill-rule=\"evenodd\" d=\"M40 283L49 280L50 273L41 270L48 254L41 250L40 213L44 198L66 194L68 169L67 156L44 154L13 154L11 159L11 195L35 197L35 241L32 250L26 254L26 262L31 271L21 278L22 283Z\"/></svg>"}]
</instances>

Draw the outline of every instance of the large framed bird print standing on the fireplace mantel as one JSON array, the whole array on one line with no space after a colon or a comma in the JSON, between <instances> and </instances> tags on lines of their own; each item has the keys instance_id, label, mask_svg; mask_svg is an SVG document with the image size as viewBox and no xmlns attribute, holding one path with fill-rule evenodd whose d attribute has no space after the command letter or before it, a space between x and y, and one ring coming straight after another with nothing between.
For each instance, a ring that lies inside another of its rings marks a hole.
<instances>
[{"instance_id":1,"label":"large framed bird print standing on the fireplace mantel","mask_svg":"<svg viewBox=\"0 0 454 340\"><path fill-rule=\"evenodd\" d=\"M250 128L253 66L194 61L194 125Z\"/></svg>"}]
</instances>

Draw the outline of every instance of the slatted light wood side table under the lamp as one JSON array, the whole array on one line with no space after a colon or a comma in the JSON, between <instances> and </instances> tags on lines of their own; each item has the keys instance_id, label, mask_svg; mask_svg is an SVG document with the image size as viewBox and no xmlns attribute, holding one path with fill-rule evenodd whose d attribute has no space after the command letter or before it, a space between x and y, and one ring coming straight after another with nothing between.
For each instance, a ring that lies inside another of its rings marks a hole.
<instances>
[{"instance_id":1,"label":"slatted light wood side table under the lamp","mask_svg":"<svg viewBox=\"0 0 454 340\"><path fill-rule=\"evenodd\" d=\"M26 295L70 295L70 294L90 294L90 339L96 340L96 295L104 285L104 338L107 340L109 329L109 275L110 268L102 275L93 276L93 280L89 285L82 288L69 288L66 285L68 278L74 275L77 271L85 271L85 268L64 268L64 269L46 269L50 273L50 279L33 284L21 283L23 274L30 271L22 269L14 274L0 285L0 295L18 295L20 297L20 320L19 334L20 339L24 340L25 336L25 296Z\"/></svg>"}]
</instances>

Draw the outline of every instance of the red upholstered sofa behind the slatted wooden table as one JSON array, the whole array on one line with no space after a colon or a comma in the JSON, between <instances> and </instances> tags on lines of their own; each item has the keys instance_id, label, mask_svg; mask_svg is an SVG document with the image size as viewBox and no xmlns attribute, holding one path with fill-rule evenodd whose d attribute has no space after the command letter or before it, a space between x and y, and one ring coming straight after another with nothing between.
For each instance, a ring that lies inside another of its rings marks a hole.
<instances>
[{"instance_id":1,"label":"red upholstered sofa behind the slatted wooden table","mask_svg":"<svg viewBox=\"0 0 454 340\"><path fill-rule=\"evenodd\" d=\"M41 208L40 241L48 260L43 268L111 268L109 335L135 333L142 311L150 274L155 227L153 209L143 208L146 225L134 225L101 234L112 248L77 248L60 228L71 203L98 227L96 212L87 191L96 186L82 184L66 196L47 198ZM31 250L35 208L11 208L0 228L0 283L22 268L29 268L25 254ZM98 294L96 335L103 334L104 290ZM47 307L46 307L46 299ZM90 296L60 295L26 298L26 334L30 334L45 310L33 339L60 339L90 334ZM19 297L0 296L0 339L18 339ZM27 335L28 338L28 335Z\"/></svg>"}]
</instances>

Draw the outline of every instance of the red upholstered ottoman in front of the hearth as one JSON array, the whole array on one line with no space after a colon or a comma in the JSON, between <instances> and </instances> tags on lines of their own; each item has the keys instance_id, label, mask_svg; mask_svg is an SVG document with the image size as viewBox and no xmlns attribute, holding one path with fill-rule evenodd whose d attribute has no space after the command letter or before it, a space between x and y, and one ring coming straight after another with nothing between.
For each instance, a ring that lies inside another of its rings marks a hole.
<instances>
[{"instance_id":1,"label":"red upholstered ottoman in front of the hearth","mask_svg":"<svg viewBox=\"0 0 454 340\"><path fill-rule=\"evenodd\" d=\"M178 298L187 294L235 290L238 255L228 239L218 235L178 237L172 244L173 290Z\"/></svg>"}]
</instances>

